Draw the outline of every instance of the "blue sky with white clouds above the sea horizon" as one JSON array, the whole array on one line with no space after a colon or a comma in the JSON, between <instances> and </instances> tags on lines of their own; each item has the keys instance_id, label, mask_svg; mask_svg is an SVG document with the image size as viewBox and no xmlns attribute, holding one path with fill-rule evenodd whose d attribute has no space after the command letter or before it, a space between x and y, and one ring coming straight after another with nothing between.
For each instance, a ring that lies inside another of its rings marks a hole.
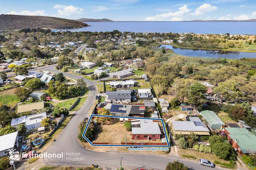
<instances>
[{"instance_id":1,"label":"blue sky with white clouds above the sea horizon","mask_svg":"<svg viewBox=\"0 0 256 170\"><path fill-rule=\"evenodd\" d=\"M114 21L256 19L256 0L0 0L0 14Z\"/></svg>"}]
</instances>

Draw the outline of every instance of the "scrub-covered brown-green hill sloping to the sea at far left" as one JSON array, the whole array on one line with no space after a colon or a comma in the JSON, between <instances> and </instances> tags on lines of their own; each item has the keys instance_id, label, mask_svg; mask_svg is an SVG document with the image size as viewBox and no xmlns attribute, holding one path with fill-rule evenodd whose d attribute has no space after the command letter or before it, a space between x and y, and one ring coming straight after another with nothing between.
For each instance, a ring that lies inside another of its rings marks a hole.
<instances>
[{"instance_id":1,"label":"scrub-covered brown-green hill sloping to the sea at far left","mask_svg":"<svg viewBox=\"0 0 256 170\"><path fill-rule=\"evenodd\" d=\"M25 28L72 29L87 27L88 24L56 17L0 15L0 30L19 30Z\"/></svg>"}]
</instances>

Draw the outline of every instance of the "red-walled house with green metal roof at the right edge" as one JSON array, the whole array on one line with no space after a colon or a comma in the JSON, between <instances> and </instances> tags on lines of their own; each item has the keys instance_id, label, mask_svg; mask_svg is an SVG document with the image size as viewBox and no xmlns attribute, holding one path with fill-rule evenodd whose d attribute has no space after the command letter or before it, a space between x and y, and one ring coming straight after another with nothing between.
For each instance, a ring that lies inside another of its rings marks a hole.
<instances>
[{"instance_id":1,"label":"red-walled house with green metal roof at the right edge","mask_svg":"<svg viewBox=\"0 0 256 170\"><path fill-rule=\"evenodd\" d=\"M246 128L225 128L228 141L239 154L256 154L256 136Z\"/></svg>"}]
</instances>

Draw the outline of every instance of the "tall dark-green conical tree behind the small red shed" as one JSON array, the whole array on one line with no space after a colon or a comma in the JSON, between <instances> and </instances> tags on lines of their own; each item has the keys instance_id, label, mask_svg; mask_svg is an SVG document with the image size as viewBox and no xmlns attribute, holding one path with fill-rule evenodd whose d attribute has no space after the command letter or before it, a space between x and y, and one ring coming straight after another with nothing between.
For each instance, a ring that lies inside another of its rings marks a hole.
<instances>
[{"instance_id":1,"label":"tall dark-green conical tree behind the small red shed","mask_svg":"<svg viewBox=\"0 0 256 170\"><path fill-rule=\"evenodd\" d=\"M195 82L189 86L188 103L194 105L196 111L198 106L205 102L204 94L206 91L206 86L199 82Z\"/></svg>"}]
</instances>

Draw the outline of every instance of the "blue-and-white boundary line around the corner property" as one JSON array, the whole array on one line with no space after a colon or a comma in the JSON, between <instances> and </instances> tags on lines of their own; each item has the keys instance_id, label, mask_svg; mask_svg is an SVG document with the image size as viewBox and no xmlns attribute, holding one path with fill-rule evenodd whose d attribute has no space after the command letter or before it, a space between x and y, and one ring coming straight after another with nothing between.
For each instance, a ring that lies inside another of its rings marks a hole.
<instances>
[{"instance_id":1,"label":"blue-and-white boundary line around the corner property","mask_svg":"<svg viewBox=\"0 0 256 170\"><path fill-rule=\"evenodd\" d=\"M86 133L86 130L89 126L89 123L91 121L91 119L93 118L93 116L95 117L111 117L111 118L131 118L131 119L149 119L149 120L160 120L162 122L162 125L163 125L163 130L165 131L165 138L167 140L167 145L101 145L101 144L93 144L86 136L85 136L85 133ZM160 148L163 148L163 147L170 147L170 143L169 143L169 140L167 138L167 133L166 133L166 129L165 129L165 124L163 122L163 119L157 119L157 118L139 118L139 117L129 117L129 116L111 116L111 115L91 115L88 122L87 122L87 125L85 127L85 130L84 130L84 133L83 133L83 137L85 138L85 140L87 142L90 143L91 146L101 146L101 147L160 147Z\"/></svg>"}]
</instances>

